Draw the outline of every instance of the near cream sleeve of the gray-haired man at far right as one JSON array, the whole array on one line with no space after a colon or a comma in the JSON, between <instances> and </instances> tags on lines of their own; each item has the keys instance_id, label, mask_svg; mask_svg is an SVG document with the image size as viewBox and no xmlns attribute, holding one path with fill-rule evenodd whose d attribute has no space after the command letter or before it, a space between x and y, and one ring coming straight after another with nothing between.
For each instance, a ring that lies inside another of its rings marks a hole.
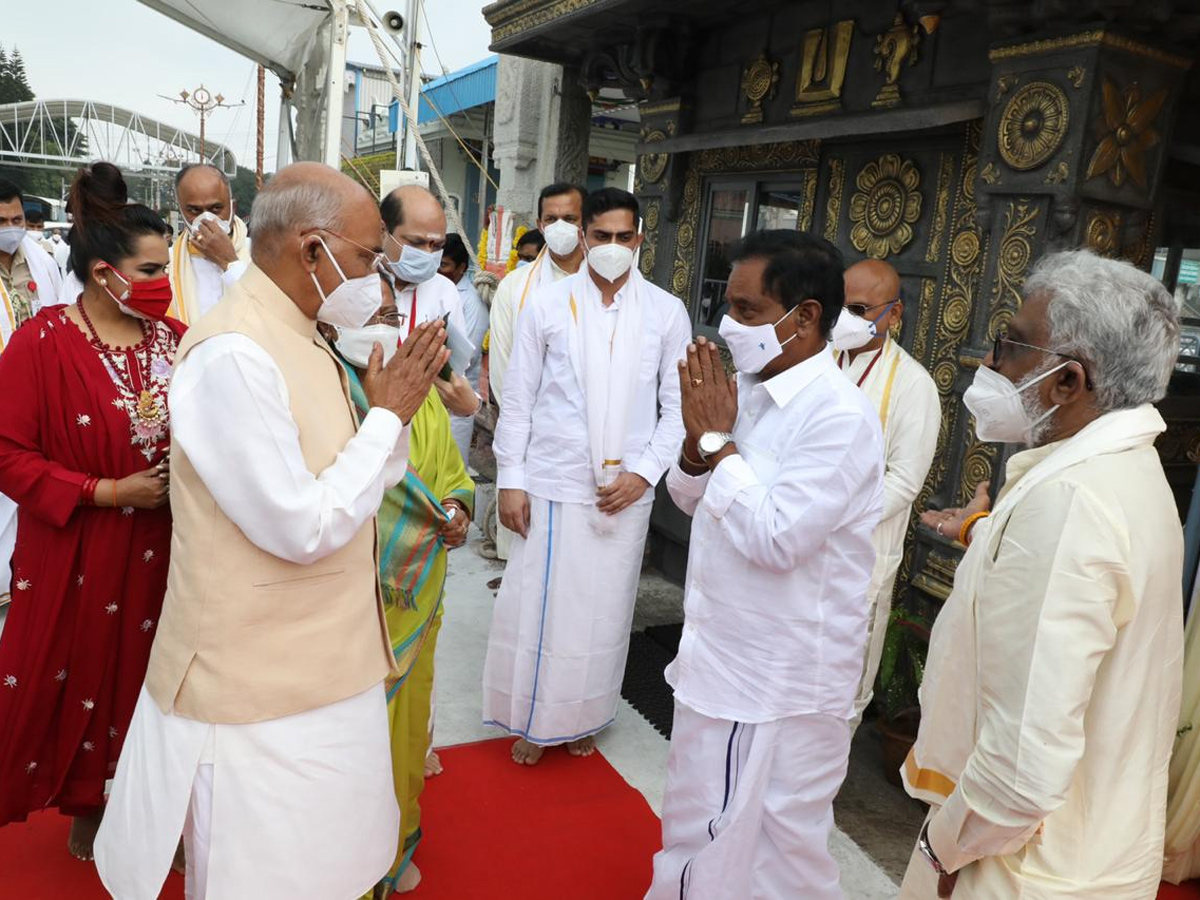
<instances>
[{"instance_id":1,"label":"near cream sleeve of the gray-haired man at far right","mask_svg":"<svg viewBox=\"0 0 1200 900\"><path fill-rule=\"evenodd\" d=\"M1128 553L1123 527L1068 481L1009 518L976 602L979 737L929 827L948 870L1019 851L1064 802L1096 672L1136 605Z\"/></svg>"}]
</instances>

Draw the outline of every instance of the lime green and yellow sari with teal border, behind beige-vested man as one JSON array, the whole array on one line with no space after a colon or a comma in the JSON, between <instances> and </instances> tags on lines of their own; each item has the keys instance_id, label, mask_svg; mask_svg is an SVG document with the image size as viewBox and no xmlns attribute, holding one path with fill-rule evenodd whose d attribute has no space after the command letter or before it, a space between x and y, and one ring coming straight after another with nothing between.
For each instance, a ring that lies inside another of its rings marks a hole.
<instances>
[{"instance_id":1,"label":"lime green and yellow sari with teal border, behind beige-vested man","mask_svg":"<svg viewBox=\"0 0 1200 900\"><path fill-rule=\"evenodd\" d=\"M358 373L344 361L350 397L360 416L368 403ZM388 491L379 508L379 583L388 632L400 674L388 683L392 775L400 804L400 847L384 880L388 893L408 868L421 840L421 791L430 749L430 703L433 650L442 628L442 595L446 548L438 528L446 521L442 500L475 508L475 482L462 463L450 433L450 416L431 390L413 416L408 438L408 472ZM367 894L370 899L371 894Z\"/></svg>"}]
</instances>

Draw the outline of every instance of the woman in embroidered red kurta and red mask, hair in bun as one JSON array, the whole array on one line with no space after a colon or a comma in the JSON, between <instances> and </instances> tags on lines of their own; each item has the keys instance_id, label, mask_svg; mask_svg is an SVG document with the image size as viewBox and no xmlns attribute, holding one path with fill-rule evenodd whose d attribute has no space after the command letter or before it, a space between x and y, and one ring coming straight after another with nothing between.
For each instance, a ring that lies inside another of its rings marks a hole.
<instances>
[{"instance_id":1,"label":"woman in embroidered red kurta and red mask, hair in bun","mask_svg":"<svg viewBox=\"0 0 1200 900\"><path fill-rule=\"evenodd\" d=\"M162 320L166 226L124 192L107 163L80 174L71 244L83 294L30 319L0 355L0 492L19 508L0 638L0 824L58 806L76 817L71 851L84 859L170 548L167 385L181 326Z\"/></svg>"}]
</instances>

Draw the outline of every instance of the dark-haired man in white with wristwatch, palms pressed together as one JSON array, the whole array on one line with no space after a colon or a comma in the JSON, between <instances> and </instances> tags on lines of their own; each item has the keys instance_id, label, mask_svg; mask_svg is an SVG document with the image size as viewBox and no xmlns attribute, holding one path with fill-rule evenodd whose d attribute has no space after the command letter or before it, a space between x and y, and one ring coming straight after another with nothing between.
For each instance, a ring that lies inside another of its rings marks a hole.
<instances>
[{"instance_id":1,"label":"dark-haired man in white with wristwatch, palms pressed together","mask_svg":"<svg viewBox=\"0 0 1200 900\"><path fill-rule=\"evenodd\" d=\"M662 850L648 900L840 900L833 798L850 758L880 521L880 416L838 372L841 254L749 235L720 332L679 365L692 516Z\"/></svg>"}]
</instances>

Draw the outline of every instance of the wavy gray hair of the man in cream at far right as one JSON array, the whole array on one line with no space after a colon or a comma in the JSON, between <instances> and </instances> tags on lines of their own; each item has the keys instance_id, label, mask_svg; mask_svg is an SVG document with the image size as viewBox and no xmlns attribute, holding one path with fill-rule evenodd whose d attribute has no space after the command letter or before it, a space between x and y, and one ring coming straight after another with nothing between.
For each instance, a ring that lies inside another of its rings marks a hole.
<instances>
[{"instance_id":1,"label":"wavy gray hair of the man in cream at far right","mask_svg":"<svg viewBox=\"0 0 1200 900\"><path fill-rule=\"evenodd\" d=\"M1044 293L1049 349L1084 360L1102 413L1154 403L1180 355L1180 305L1154 276L1088 250L1043 257L1025 295Z\"/></svg>"}]
</instances>

